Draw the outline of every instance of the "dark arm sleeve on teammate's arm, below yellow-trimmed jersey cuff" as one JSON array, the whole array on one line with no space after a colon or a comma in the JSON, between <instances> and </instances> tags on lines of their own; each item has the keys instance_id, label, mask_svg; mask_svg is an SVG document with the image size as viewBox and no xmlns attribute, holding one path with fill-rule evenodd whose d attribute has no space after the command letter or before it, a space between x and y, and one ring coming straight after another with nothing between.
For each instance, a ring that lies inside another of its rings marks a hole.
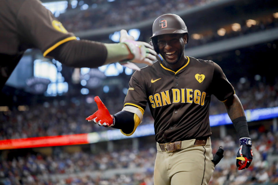
<instances>
[{"instance_id":1,"label":"dark arm sleeve on teammate's arm, below yellow-trimmed jersey cuff","mask_svg":"<svg viewBox=\"0 0 278 185\"><path fill-rule=\"evenodd\" d=\"M94 68L104 64L107 49L101 42L90 40L70 40L58 46L47 56L71 67Z\"/></svg>"}]
</instances>

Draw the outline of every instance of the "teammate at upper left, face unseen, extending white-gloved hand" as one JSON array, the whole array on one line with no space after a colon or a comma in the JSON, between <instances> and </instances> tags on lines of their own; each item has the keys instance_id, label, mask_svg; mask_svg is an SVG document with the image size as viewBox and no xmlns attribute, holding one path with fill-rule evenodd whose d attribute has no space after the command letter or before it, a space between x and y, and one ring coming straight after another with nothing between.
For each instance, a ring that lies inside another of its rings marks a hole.
<instances>
[{"instance_id":1,"label":"teammate at upper left, face unseen, extending white-gloved hand","mask_svg":"<svg viewBox=\"0 0 278 185\"><path fill-rule=\"evenodd\" d=\"M125 61L123 65L139 69L131 62L152 64L156 53L145 42L126 40L103 44L76 40L39 0L0 1L0 90L17 66L24 51L38 48L44 57L73 67L97 67Z\"/></svg>"}]
</instances>

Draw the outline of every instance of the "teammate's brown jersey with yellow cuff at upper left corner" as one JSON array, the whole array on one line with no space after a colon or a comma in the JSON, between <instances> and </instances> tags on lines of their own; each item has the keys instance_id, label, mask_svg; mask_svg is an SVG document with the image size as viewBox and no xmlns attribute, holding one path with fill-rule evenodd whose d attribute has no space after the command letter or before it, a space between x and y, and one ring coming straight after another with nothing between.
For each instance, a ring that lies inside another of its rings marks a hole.
<instances>
[{"instance_id":1,"label":"teammate's brown jersey with yellow cuff at upper left corner","mask_svg":"<svg viewBox=\"0 0 278 185\"><path fill-rule=\"evenodd\" d=\"M0 1L0 89L28 48L43 56L59 45L75 40L38 0Z\"/></svg>"}]
</instances>

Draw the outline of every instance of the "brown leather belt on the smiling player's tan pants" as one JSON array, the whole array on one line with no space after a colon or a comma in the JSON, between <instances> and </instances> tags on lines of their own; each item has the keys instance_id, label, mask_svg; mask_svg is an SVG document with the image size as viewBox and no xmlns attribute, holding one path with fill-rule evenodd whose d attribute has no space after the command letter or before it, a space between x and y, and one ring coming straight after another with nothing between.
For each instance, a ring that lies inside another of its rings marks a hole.
<instances>
[{"instance_id":1,"label":"brown leather belt on the smiling player's tan pants","mask_svg":"<svg viewBox=\"0 0 278 185\"><path fill-rule=\"evenodd\" d=\"M194 147L196 146L205 146L206 145L206 140L207 139L196 139L194 142ZM182 149L182 142L181 141L175 141L174 143L164 143L164 144L159 144L161 151L167 151L167 152L173 152L177 150Z\"/></svg>"}]
</instances>

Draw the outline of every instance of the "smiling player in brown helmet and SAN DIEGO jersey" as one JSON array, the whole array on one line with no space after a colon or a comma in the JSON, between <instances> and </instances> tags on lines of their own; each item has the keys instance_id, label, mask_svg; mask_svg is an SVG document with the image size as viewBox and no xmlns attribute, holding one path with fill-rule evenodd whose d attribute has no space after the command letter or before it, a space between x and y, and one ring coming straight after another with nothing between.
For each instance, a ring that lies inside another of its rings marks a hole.
<instances>
[{"instance_id":1,"label":"smiling player in brown helmet and SAN DIEGO jersey","mask_svg":"<svg viewBox=\"0 0 278 185\"><path fill-rule=\"evenodd\" d=\"M244 110L220 66L184 55L188 32L178 15L159 16L151 40L162 60L132 75L122 111L110 115L95 97L98 111L87 120L130 136L148 103L157 141L154 184L208 184L215 167L209 125L209 104L215 95L240 137L238 169L248 168L253 153Z\"/></svg>"}]
</instances>

